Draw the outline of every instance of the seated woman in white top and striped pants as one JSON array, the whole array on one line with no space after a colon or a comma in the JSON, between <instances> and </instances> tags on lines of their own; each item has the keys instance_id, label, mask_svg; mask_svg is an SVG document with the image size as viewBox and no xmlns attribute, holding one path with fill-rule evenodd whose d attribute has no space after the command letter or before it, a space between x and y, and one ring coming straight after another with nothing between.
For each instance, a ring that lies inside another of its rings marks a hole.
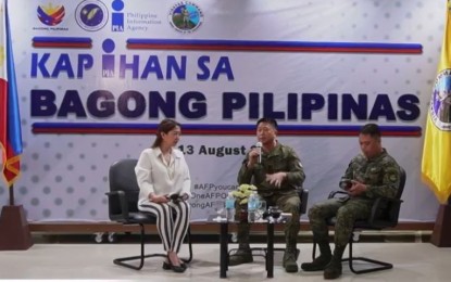
<instances>
[{"instance_id":1,"label":"seated woman in white top and striped pants","mask_svg":"<svg viewBox=\"0 0 451 282\"><path fill-rule=\"evenodd\" d=\"M173 119L160 123L152 146L145 149L135 167L139 184L138 209L156 216L156 229L167 252L163 269L184 272L178 257L190 220L191 179L184 153L175 146L180 125ZM178 200L172 200L177 197Z\"/></svg>"}]
</instances>

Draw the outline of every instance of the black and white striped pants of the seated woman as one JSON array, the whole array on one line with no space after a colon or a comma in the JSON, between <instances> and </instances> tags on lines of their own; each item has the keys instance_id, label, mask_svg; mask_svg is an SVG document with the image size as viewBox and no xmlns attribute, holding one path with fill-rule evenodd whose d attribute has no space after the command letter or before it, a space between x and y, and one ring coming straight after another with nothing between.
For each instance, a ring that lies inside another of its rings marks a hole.
<instances>
[{"instance_id":1,"label":"black and white striped pants of the seated woman","mask_svg":"<svg viewBox=\"0 0 451 282\"><path fill-rule=\"evenodd\" d=\"M156 230L164 251L178 253L189 227L191 206L188 202L158 204L148 201L138 208L156 216Z\"/></svg>"}]
</instances>

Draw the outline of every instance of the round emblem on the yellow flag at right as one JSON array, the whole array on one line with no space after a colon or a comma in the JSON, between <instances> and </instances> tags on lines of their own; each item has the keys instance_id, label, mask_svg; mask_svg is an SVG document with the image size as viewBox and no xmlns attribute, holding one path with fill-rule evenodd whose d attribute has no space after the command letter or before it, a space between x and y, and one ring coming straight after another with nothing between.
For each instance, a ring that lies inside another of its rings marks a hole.
<instances>
[{"instance_id":1,"label":"round emblem on the yellow flag at right","mask_svg":"<svg viewBox=\"0 0 451 282\"><path fill-rule=\"evenodd\" d=\"M437 76L430 116L439 129L451 131L451 68L443 69Z\"/></svg>"}]
</instances>

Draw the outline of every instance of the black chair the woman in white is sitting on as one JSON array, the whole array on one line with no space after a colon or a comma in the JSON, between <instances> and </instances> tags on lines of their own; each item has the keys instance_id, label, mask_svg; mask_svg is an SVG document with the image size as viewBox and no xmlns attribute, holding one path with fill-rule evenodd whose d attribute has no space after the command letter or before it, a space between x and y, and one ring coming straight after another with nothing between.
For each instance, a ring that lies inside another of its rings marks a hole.
<instances>
[{"instance_id":1,"label":"black chair the woman in white is sitting on","mask_svg":"<svg viewBox=\"0 0 451 282\"><path fill-rule=\"evenodd\" d=\"M139 225L141 254L139 256L116 258L113 260L115 265L140 270L148 257L166 257L166 254L145 255L145 226L155 225L156 217L150 213L140 211L138 209L139 187L135 175L135 166L137 159L122 159L114 163L110 167L110 192L108 195L109 215L112 221L123 225ZM192 259L191 232L188 228L185 238L189 247L189 258L181 259L189 262ZM124 261L140 259L139 266L126 264Z\"/></svg>"}]
</instances>

